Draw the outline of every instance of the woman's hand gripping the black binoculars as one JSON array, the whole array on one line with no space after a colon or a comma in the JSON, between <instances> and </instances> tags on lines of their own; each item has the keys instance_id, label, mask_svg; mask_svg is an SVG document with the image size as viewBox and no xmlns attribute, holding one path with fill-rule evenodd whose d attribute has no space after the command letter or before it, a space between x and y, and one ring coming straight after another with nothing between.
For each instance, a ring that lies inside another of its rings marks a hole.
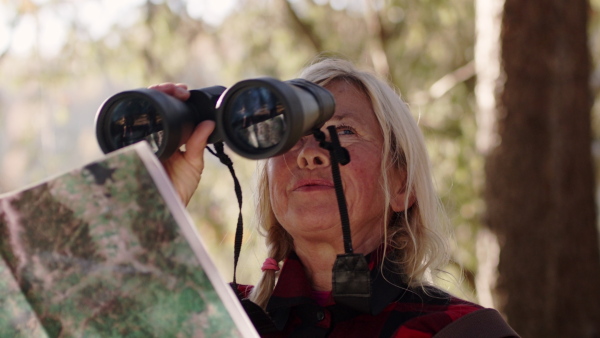
<instances>
[{"instance_id":1,"label":"woman's hand gripping the black binoculars","mask_svg":"<svg viewBox=\"0 0 600 338\"><path fill-rule=\"evenodd\" d=\"M190 97L187 86L180 83L163 83L149 88L182 101ZM176 151L171 157L162 162L184 205L189 203L198 187L198 183L200 183L200 177L204 169L204 148L208 136L214 128L214 121L207 120L200 123L186 142L185 152Z\"/></svg>"}]
</instances>

